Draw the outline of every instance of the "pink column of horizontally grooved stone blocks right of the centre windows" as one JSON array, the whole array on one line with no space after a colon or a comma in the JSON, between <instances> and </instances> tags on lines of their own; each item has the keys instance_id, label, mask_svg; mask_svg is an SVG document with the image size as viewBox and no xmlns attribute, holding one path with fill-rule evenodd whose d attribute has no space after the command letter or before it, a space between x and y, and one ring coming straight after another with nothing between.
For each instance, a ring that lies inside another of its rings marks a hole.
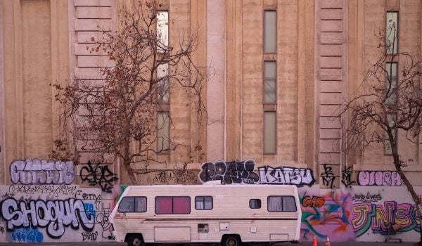
<instances>
[{"instance_id":1,"label":"pink column of horizontally grooved stone blocks right of the centre windows","mask_svg":"<svg viewBox=\"0 0 422 246\"><path fill-rule=\"evenodd\" d=\"M340 188L340 134L338 113L343 97L343 1L320 0L319 18L319 176L321 187ZM317 81L318 82L318 81Z\"/></svg>"}]
</instances>

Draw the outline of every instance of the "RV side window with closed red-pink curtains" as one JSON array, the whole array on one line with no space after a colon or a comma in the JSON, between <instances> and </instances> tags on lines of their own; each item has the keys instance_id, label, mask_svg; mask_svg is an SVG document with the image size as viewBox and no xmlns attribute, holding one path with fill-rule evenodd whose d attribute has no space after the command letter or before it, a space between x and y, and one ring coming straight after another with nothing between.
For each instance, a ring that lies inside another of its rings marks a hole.
<instances>
[{"instance_id":1,"label":"RV side window with closed red-pink curtains","mask_svg":"<svg viewBox=\"0 0 422 246\"><path fill-rule=\"evenodd\" d=\"M189 197L155 197L155 214L190 214Z\"/></svg>"}]
</instances>

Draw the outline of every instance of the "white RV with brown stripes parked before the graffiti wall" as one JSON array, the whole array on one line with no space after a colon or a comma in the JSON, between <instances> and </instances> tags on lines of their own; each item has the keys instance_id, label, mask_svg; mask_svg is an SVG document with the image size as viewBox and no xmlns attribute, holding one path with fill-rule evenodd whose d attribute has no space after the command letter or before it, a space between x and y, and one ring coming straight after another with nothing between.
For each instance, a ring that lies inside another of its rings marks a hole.
<instances>
[{"instance_id":1,"label":"white RV with brown stripes parked before the graffiti wall","mask_svg":"<svg viewBox=\"0 0 422 246\"><path fill-rule=\"evenodd\" d=\"M129 246L167 242L236 246L298 241L300 217L296 186L214 183L129 186L110 221L115 239Z\"/></svg>"}]
</instances>

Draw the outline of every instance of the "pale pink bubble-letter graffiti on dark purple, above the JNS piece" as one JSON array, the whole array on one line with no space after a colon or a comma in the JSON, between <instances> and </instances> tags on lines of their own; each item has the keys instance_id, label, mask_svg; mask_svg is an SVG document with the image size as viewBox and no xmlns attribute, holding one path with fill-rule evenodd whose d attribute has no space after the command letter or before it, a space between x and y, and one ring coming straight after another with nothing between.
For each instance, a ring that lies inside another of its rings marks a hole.
<instances>
[{"instance_id":1,"label":"pale pink bubble-letter graffiti on dark purple, above the JNS piece","mask_svg":"<svg viewBox=\"0 0 422 246\"><path fill-rule=\"evenodd\" d=\"M401 186L397 171L359 171L357 174L359 186Z\"/></svg>"}]
</instances>

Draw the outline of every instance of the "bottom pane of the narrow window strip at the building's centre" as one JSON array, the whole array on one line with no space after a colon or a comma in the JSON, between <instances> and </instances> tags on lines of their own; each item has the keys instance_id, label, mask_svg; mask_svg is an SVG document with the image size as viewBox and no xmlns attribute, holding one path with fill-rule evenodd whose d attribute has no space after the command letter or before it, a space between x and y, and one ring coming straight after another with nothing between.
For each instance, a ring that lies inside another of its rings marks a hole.
<instances>
[{"instance_id":1,"label":"bottom pane of the narrow window strip at the building's centre","mask_svg":"<svg viewBox=\"0 0 422 246\"><path fill-rule=\"evenodd\" d=\"M264 111L264 154L276 153L276 112Z\"/></svg>"}]
</instances>

